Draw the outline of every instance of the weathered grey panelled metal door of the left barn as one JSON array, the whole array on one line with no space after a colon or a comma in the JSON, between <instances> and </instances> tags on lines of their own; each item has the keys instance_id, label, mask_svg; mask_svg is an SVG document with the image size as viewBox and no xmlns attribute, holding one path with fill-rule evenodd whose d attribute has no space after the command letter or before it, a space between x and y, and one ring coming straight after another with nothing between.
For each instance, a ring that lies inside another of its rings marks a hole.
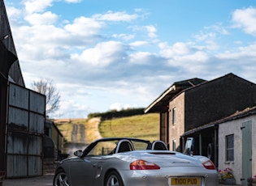
<instances>
[{"instance_id":1,"label":"weathered grey panelled metal door of the left barn","mask_svg":"<svg viewBox=\"0 0 256 186\"><path fill-rule=\"evenodd\" d=\"M42 175L46 96L9 84L7 177Z\"/></svg>"}]
</instances>

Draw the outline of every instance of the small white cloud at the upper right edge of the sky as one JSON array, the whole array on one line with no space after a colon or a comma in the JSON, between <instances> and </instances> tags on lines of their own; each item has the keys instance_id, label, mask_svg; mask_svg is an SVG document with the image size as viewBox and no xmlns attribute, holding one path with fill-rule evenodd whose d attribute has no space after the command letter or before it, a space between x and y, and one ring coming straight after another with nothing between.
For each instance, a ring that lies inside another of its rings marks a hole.
<instances>
[{"instance_id":1,"label":"small white cloud at the upper right edge of the sky","mask_svg":"<svg viewBox=\"0 0 256 186\"><path fill-rule=\"evenodd\" d=\"M239 27L246 33L256 36L256 8L237 9L232 14L233 27Z\"/></svg>"}]
</instances>

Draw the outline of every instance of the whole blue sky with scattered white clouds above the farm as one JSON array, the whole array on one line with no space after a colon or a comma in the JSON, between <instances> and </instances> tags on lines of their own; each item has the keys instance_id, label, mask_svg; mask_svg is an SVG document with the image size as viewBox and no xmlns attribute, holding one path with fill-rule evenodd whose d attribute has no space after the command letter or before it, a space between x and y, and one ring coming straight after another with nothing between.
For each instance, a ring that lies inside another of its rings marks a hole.
<instances>
[{"instance_id":1,"label":"whole blue sky with scattered white clouds above the farm","mask_svg":"<svg viewBox=\"0 0 256 186\"><path fill-rule=\"evenodd\" d=\"M256 82L252 0L6 0L26 87L50 78L54 118L146 108L173 82Z\"/></svg>"}]
</instances>

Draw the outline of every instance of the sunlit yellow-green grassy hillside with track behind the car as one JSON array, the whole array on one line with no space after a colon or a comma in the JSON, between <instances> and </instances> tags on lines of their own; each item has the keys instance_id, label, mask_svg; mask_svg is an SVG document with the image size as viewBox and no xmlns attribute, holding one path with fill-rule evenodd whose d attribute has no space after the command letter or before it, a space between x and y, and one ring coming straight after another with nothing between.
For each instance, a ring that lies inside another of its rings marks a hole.
<instances>
[{"instance_id":1,"label":"sunlit yellow-green grassy hillside with track behind the car","mask_svg":"<svg viewBox=\"0 0 256 186\"><path fill-rule=\"evenodd\" d=\"M159 115L144 114L119 119L100 118L55 120L65 137L66 147L74 143L83 145L101 137L137 137L150 141L159 137Z\"/></svg>"}]
</instances>

